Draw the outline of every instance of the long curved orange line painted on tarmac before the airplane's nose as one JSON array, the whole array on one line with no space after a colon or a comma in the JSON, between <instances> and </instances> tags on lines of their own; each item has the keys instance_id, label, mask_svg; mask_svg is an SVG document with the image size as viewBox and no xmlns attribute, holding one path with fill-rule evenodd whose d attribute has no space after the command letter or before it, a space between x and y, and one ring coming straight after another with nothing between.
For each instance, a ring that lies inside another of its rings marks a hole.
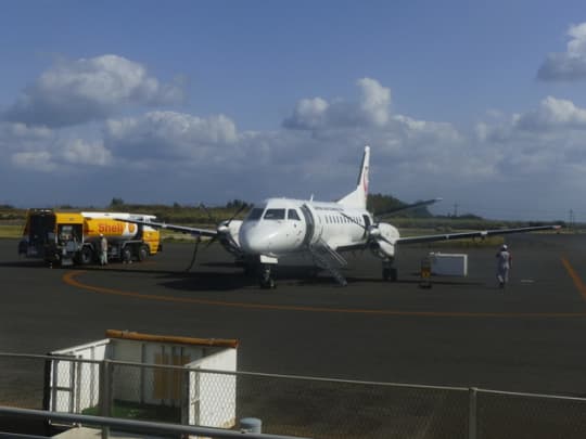
<instances>
[{"instance_id":1,"label":"long curved orange line painted on tarmac before the airplane's nose","mask_svg":"<svg viewBox=\"0 0 586 439\"><path fill-rule=\"evenodd\" d=\"M138 299L171 301L180 304L199 304L219 307L246 308L257 310L280 310L280 311L304 311L304 312L329 312L347 314L371 314L371 315L400 315L400 317L431 317L431 318L585 318L586 312L440 312L440 311L400 311L384 309L354 309L354 308L324 308L324 307L303 307L290 305L268 305L268 304L247 304L232 302L221 300L195 299L192 297L174 297L155 294L143 294L136 292L125 292L122 289L93 286L79 282L76 277L86 273L86 271L69 271L63 275L63 282L100 294L110 294L115 296L135 297Z\"/></svg>"}]
</instances>

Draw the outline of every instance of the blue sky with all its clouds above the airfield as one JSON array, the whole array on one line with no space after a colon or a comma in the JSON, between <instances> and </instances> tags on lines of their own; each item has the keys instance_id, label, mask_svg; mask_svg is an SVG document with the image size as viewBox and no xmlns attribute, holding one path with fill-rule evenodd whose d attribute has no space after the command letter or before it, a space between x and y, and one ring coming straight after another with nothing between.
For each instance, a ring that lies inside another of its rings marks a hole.
<instances>
[{"instance_id":1,"label":"blue sky with all its clouds above the airfield","mask_svg":"<svg viewBox=\"0 0 586 439\"><path fill-rule=\"evenodd\" d=\"M4 1L0 203L371 191L586 221L579 1Z\"/></svg>"}]
</instances>

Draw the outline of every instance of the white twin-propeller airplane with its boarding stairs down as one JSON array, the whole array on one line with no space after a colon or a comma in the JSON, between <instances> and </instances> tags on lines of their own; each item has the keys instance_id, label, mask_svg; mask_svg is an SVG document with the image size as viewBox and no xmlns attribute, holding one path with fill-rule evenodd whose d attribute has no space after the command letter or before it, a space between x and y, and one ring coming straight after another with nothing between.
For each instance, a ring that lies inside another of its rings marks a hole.
<instances>
[{"instance_id":1,"label":"white twin-propeller airplane with its boarding stairs down","mask_svg":"<svg viewBox=\"0 0 586 439\"><path fill-rule=\"evenodd\" d=\"M327 270L342 286L347 282L340 271L347 262L342 253L370 249L382 261L382 279L396 281L394 267L398 246L434 241L461 240L537 230L556 230L559 225L536 225L514 229L495 229L458 233L443 233L422 236L400 236L397 228L380 222L367 210L369 186L370 146L365 146L356 189L336 202L313 199L268 198L259 206L253 206L244 220L232 218L219 223L216 230L167 224L154 221L120 219L120 221L153 228L190 233L196 236L196 246L202 236L218 241L235 260L243 263L245 271L258 268L259 286L275 288L273 269L279 260L292 255L309 255L314 263ZM431 205L442 198L433 198L410 204L390 211ZM209 244L211 244L209 243ZM208 245L209 245L208 244Z\"/></svg>"}]
</instances>

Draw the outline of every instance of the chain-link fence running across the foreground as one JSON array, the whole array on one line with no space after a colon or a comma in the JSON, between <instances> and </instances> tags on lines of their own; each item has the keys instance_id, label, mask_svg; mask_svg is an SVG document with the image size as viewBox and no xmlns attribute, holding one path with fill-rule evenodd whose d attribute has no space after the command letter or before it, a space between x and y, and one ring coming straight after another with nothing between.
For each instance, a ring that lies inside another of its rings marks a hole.
<instances>
[{"instance_id":1,"label":"chain-link fence running across the foreground","mask_svg":"<svg viewBox=\"0 0 586 439\"><path fill-rule=\"evenodd\" d=\"M313 438L584 438L586 399L0 353L0 405Z\"/></svg>"}]
</instances>

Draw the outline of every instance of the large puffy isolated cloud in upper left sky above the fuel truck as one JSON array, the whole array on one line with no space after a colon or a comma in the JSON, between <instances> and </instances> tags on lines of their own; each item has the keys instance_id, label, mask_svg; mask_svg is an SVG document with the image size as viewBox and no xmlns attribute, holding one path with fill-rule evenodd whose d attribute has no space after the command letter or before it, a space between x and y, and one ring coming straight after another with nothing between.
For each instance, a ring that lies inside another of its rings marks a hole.
<instances>
[{"instance_id":1,"label":"large puffy isolated cloud in upper left sky above the fuel truck","mask_svg":"<svg viewBox=\"0 0 586 439\"><path fill-rule=\"evenodd\" d=\"M117 55L60 61L26 88L5 120L66 127L101 120L120 106L180 102L178 85L162 85L146 68Z\"/></svg>"}]
</instances>

